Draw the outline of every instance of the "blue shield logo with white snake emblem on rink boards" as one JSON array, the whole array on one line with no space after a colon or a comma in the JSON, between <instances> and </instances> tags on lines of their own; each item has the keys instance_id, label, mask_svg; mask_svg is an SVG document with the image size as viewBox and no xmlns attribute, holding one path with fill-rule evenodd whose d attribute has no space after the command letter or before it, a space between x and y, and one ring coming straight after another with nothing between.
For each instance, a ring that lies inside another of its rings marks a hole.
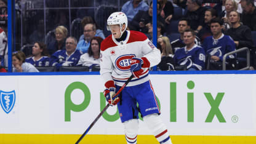
<instances>
[{"instance_id":1,"label":"blue shield logo with white snake emblem on rink boards","mask_svg":"<svg viewBox=\"0 0 256 144\"><path fill-rule=\"evenodd\" d=\"M2 110L7 114L12 111L12 108L14 108L15 99L15 90L12 90L11 92L4 92L0 90L0 103Z\"/></svg>"}]
</instances>

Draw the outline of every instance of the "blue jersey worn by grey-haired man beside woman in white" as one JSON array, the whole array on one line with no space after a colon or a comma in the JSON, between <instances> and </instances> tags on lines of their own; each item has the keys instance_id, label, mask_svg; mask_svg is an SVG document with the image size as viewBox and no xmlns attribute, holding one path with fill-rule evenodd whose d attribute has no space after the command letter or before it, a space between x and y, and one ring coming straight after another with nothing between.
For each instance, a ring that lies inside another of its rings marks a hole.
<instances>
[{"instance_id":1,"label":"blue jersey worn by grey-haired man beside woman in white","mask_svg":"<svg viewBox=\"0 0 256 144\"><path fill-rule=\"evenodd\" d=\"M50 65L57 68L60 66L76 66L81 55L80 50L75 50L71 55L66 54L66 50L58 50L50 57Z\"/></svg>"}]
</instances>

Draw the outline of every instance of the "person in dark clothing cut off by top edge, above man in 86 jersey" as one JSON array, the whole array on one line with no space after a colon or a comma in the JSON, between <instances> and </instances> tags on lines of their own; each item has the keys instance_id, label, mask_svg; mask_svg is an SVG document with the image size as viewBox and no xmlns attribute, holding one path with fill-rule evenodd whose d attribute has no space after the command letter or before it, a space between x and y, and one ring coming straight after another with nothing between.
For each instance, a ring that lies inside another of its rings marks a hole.
<instances>
[{"instance_id":1,"label":"person in dark clothing cut off by top edge, above man in 86 jersey","mask_svg":"<svg viewBox=\"0 0 256 144\"><path fill-rule=\"evenodd\" d=\"M185 17L190 20L190 26L196 33L198 33L204 25L204 12L206 7L202 7L201 0L187 0L186 6L188 11Z\"/></svg>"}]
</instances>

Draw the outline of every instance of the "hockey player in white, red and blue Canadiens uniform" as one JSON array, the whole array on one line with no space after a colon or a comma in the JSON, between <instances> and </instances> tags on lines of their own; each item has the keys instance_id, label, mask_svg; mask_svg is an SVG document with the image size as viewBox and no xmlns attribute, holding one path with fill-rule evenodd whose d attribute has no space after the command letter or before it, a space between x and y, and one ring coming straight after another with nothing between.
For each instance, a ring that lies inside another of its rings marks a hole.
<instances>
[{"instance_id":1,"label":"hockey player in white, red and blue Canadiens uniform","mask_svg":"<svg viewBox=\"0 0 256 144\"><path fill-rule=\"evenodd\" d=\"M161 60L160 51L145 34L126 30L127 24L127 17L122 12L114 12L107 20L111 35L102 42L100 52L100 74L106 87L104 95L108 103L118 105L127 143L137 143L139 110L158 142L171 143L166 126L159 118L158 102L148 76L148 69ZM132 81L119 97L113 98L131 74L134 75Z\"/></svg>"}]
</instances>

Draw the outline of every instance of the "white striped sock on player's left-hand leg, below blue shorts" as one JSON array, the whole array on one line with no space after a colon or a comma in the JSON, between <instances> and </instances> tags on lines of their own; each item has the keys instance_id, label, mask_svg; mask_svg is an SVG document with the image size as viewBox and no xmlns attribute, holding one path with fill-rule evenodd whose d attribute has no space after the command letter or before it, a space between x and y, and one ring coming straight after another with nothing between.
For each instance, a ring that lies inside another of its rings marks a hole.
<instances>
[{"instance_id":1,"label":"white striped sock on player's left-hand leg, below blue shorts","mask_svg":"<svg viewBox=\"0 0 256 144\"><path fill-rule=\"evenodd\" d=\"M137 143L138 119L130 119L124 122L124 134L126 134L127 144Z\"/></svg>"}]
</instances>

